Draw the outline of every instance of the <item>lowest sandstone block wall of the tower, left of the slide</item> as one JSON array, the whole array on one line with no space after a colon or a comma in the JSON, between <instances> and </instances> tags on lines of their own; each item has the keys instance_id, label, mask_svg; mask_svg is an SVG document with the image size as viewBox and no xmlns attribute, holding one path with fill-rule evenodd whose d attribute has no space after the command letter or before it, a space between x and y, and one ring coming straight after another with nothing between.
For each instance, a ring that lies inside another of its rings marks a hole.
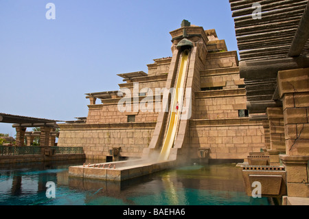
<instances>
[{"instance_id":1,"label":"lowest sandstone block wall of the tower, left of the slide","mask_svg":"<svg viewBox=\"0 0 309 219\"><path fill-rule=\"evenodd\" d=\"M61 128L61 127L60 127ZM152 138L154 128L84 128L62 126L58 146L83 147L87 159L106 159L112 148L122 149L121 157L141 157Z\"/></svg>"}]
</instances>

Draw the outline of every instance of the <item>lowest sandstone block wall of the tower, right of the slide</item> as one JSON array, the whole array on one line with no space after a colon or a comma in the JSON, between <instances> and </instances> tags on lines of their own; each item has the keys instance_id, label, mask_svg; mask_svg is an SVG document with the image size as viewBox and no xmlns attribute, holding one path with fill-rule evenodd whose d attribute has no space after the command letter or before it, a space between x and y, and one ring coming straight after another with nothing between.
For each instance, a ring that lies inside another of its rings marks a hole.
<instances>
[{"instance_id":1,"label":"lowest sandstone block wall of the tower, right of the slide","mask_svg":"<svg viewBox=\"0 0 309 219\"><path fill-rule=\"evenodd\" d=\"M210 159L245 159L264 148L264 130L247 119L196 120L191 122L188 144L196 152L210 148Z\"/></svg>"}]
</instances>

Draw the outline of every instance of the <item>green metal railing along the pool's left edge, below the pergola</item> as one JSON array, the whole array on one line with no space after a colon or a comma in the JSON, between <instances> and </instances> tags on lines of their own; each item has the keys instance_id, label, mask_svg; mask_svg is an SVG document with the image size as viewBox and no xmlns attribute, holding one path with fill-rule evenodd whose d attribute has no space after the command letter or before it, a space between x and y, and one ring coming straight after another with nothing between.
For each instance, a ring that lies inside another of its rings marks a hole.
<instances>
[{"instance_id":1,"label":"green metal railing along the pool's left edge, below the pergola","mask_svg":"<svg viewBox=\"0 0 309 219\"><path fill-rule=\"evenodd\" d=\"M53 154L83 154L82 147L0 146L0 155L34 155L54 150Z\"/></svg>"}]
</instances>

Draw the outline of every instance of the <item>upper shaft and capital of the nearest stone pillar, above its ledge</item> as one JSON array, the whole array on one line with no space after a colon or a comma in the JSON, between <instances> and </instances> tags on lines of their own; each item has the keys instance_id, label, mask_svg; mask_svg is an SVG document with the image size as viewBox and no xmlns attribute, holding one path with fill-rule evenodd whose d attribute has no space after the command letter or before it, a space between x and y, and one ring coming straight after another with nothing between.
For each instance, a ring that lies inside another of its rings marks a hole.
<instances>
[{"instance_id":1,"label":"upper shaft and capital of the nearest stone pillar, above its ledge","mask_svg":"<svg viewBox=\"0 0 309 219\"><path fill-rule=\"evenodd\" d=\"M309 69L279 71L288 155L309 155Z\"/></svg>"}]
</instances>

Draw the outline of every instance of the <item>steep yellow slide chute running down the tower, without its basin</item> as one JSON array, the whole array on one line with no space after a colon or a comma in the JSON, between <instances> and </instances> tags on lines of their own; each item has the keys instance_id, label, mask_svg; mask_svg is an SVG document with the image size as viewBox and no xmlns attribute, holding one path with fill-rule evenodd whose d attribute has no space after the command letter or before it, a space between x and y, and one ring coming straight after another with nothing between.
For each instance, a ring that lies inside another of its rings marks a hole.
<instances>
[{"instance_id":1,"label":"steep yellow slide chute running down the tower, without its basin","mask_svg":"<svg viewBox=\"0 0 309 219\"><path fill-rule=\"evenodd\" d=\"M167 161L170 155L170 149L174 144L174 139L176 136L176 130L179 125L179 118L181 116L181 106L183 104L183 93L185 91L185 72L187 70L187 61L189 53L187 50L183 51L181 57L181 65L179 67L178 78L176 81L176 87L174 90L174 95L172 97L172 102L170 104L170 119L168 123L168 131L165 135L163 141L163 146L159 154L159 161ZM178 102L178 104L177 104ZM179 106L179 110L176 110L176 106Z\"/></svg>"}]
</instances>

